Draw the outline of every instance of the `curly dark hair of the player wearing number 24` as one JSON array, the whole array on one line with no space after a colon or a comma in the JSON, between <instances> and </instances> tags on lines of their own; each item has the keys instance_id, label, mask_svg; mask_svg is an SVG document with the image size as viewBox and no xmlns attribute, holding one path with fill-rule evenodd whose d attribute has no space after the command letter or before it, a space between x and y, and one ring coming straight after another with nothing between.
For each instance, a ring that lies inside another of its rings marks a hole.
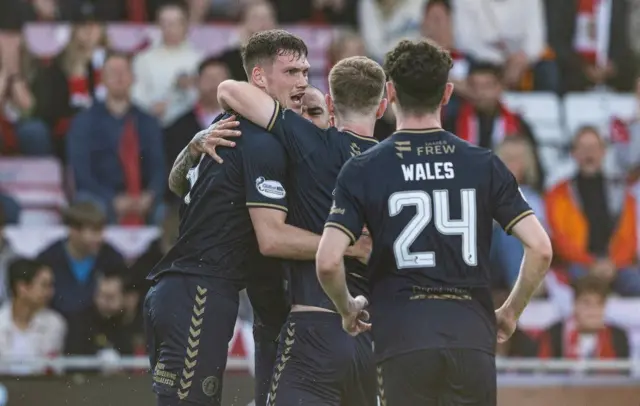
<instances>
[{"instance_id":1,"label":"curly dark hair of the player wearing number 24","mask_svg":"<svg viewBox=\"0 0 640 406\"><path fill-rule=\"evenodd\" d=\"M453 60L435 42L400 41L387 53L384 70L396 89L403 110L424 114L440 106Z\"/></svg>"}]
</instances>

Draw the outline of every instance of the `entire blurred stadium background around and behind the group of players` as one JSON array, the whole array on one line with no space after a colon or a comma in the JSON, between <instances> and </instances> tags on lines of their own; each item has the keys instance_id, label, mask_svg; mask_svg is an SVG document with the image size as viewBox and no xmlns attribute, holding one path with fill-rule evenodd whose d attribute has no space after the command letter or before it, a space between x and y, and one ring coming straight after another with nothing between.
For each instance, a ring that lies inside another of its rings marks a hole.
<instances>
[{"instance_id":1,"label":"entire blurred stadium background around and behind the group of players","mask_svg":"<svg viewBox=\"0 0 640 406\"><path fill-rule=\"evenodd\" d=\"M639 0L0 0L0 405L153 404L140 308L177 235L167 175L276 27L323 91L402 38L451 51L445 129L495 150L555 249L497 349L500 405L637 406ZM497 227L496 306L521 259ZM251 322L245 300L225 404L253 398Z\"/></svg>"}]
</instances>

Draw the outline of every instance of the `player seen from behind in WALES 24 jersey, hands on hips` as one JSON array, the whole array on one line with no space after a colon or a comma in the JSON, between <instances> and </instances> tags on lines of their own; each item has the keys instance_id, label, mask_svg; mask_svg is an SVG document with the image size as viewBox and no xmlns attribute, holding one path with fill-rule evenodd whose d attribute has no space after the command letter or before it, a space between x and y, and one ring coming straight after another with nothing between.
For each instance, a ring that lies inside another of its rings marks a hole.
<instances>
[{"instance_id":1,"label":"player seen from behind in WALES 24 jersey, hands on hips","mask_svg":"<svg viewBox=\"0 0 640 406\"><path fill-rule=\"evenodd\" d=\"M429 41L402 41L387 54L398 130L340 172L316 256L344 328L373 326L382 404L495 405L496 336L513 333L551 259L549 238L505 165L440 128L451 65ZM493 219L525 247L518 282L495 314ZM347 289L342 259L365 224L373 239L371 325L366 300Z\"/></svg>"}]
</instances>

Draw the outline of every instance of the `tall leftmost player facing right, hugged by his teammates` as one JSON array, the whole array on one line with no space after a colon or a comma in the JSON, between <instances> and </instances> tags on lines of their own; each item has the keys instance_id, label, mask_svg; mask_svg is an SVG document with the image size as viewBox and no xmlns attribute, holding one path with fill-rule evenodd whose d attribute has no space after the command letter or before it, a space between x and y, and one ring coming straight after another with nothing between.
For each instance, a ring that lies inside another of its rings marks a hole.
<instances>
[{"instance_id":1,"label":"tall leftmost player facing right, hugged by his teammates","mask_svg":"<svg viewBox=\"0 0 640 406\"><path fill-rule=\"evenodd\" d=\"M300 110L309 67L300 38L282 30L254 34L243 57L251 83ZM232 116L219 118L231 131ZM220 151L223 165L201 155L208 134L202 131L170 174L170 189L184 199L180 235L149 275L155 285L145 301L153 385L162 406L220 405L238 291L244 287L256 313L257 402L266 403L276 338L288 306L280 261L260 254L312 260L320 240L319 233L285 223L287 156L282 145L263 135L264 129L239 121L243 137L236 143L220 140L220 145L236 145Z\"/></svg>"}]
</instances>

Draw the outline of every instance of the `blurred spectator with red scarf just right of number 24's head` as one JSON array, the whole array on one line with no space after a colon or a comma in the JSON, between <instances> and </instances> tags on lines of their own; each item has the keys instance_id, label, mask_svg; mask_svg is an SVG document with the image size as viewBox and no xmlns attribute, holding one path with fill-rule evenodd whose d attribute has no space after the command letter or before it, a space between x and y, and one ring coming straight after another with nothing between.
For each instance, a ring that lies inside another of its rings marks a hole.
<instances>
[{"instance_id":1,"label":"blurred spectator with red scarf just right of number 24's head","mask_svg":"<svg viewBox=\"0 0 640 406\"><path fill-rule=\"evenodd\" d=\"M536 139L529 124L502 104L503 86L500 67L472 64L467 77L471 99L449 107L445 112L444 128L458 137L484 148L494 148L505 137L521 135L533 146L539 189L544 174L537 156ZM454 107L455 106L455 107Z\"/></svg>"}]
</instances>

